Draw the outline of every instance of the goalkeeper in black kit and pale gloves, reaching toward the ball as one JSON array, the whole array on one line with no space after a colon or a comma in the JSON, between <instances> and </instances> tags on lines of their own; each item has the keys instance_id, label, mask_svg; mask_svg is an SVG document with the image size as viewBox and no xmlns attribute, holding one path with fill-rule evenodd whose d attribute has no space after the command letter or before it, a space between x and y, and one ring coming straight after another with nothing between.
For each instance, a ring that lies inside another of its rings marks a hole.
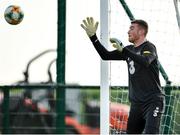
<instances>
[{"instance_id":1,"label":"goalkeeper in black kit and pale gloves, reaching toward the ball","mask_svg":"<svg viewBox=\"0 0 180 135\"><path fill-rule=\"evenodd\" d=\"M82 28L103 60L125 60L128 64L131 108L127 133L158 134L164 93L159 80L156 47L146 40L148 24L143 20L132 21L128 39L133 45L122 47L118 40L110 39L116 50L108 51L96 36L98 22L88 17L83 23Z\"/></svg>"}]
</instances>

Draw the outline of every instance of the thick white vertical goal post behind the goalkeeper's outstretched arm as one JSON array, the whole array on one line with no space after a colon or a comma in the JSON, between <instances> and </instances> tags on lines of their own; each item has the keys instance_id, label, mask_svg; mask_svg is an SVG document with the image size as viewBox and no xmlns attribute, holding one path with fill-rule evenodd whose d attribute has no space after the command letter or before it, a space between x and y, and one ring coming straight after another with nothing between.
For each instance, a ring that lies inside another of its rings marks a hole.
<instances>
[{"instance_id":1,"label":"thick white vertical goal post behind the goalkeeper's outstretched arm","mask_svg":"<svg viewBox=\"0 0 180 135\"><path fill-rule=\"evenodd\" d=\"M100 0L100 41L108 48L109 0ZM109 62L101 60L100 134L109 134Z\"/></svg>"}]
</instances>

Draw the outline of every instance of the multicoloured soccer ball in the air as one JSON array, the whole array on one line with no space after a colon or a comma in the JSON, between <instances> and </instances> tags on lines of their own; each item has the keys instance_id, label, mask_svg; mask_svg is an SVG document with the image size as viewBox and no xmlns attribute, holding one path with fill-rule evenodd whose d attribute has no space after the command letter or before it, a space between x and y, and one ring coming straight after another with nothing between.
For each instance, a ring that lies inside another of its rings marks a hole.
<instances>
[{"instance_id":1,"label":"multicoloured soccer ball in the air","mask_svg":"<svg viewBox=\"0 0 180 135\"><path fill-rule=\"evenodd\" d=\"M9 24L17 25L23 20L24 13L19 6L11 5L6 8L4 18Z\"/></svg>"}]
</instances>

